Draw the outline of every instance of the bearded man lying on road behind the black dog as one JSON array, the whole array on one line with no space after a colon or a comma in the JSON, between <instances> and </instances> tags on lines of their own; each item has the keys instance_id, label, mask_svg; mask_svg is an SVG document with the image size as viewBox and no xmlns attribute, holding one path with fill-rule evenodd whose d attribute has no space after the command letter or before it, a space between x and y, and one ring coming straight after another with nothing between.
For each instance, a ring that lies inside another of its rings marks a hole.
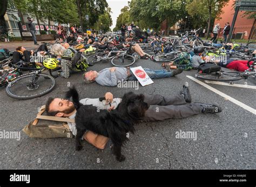
<instances>
[{"instance_id":1,"label":"bearded man lying on road behind the black dog","mask_svg":"<svg viewBox=\"0 0 256 187\"><path fill-rule=\"evenodd\" d=\"M191 95L188 87L183 85L180 95L172 97L156 95L144 95L144 102L150 105L145 112L143 121L162 121L165 119L181 119L199 113L219 113L221 108L215 104L191 103ZM112 93L105 93L105 100L100 101L98 98L81 99L83 105L93 105L100 110L114 110L121 102L121 98L113 98ZM49 116L68 117L74 119L76 109L70 100L61 98L49 98L45 110ZM68 123L73 135L77 134L76 124ZM109 138L87 131L83 137L84 140L93 146L104 149Z\"/></svg>"}]
</instances>

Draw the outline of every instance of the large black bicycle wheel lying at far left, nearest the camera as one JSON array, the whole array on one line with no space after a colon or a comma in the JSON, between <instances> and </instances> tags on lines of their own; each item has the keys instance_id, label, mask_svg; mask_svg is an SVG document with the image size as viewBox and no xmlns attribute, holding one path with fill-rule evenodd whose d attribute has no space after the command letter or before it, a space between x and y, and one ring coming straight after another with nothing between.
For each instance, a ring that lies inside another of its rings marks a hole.
<instances>
[{"instance_id":1,"label":"large black bicycle wheel lying at far left, nearest the camera","mask_svg":"<svg viewBox=\"0 0 256 187\"><path fill-rule=\"evenodd\" d=\"M17 77L6 87L6 94L15 99L32 99L52 91L55 79L47 74L25 74Z\"/></svg>"}]
</instances>

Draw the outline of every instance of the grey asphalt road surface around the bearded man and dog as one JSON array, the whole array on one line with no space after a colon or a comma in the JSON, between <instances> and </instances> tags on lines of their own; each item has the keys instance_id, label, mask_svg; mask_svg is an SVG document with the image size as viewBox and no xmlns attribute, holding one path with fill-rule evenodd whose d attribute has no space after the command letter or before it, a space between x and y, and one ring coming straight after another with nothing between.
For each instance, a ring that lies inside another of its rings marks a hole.
<instances>
[{"instance_id":1,"label":"grey asphalt road surface around the bearded man and dog","mask_svg":"<svg viewBox=\"0 0 256 187\"><path fill-rule=\"evenodd\" d=\"M151 60L139 60L136 66L160 69L160 64ZM96 64L88 70L111 67L110 62ZM82 74L70 78L58 77L56 88L40 98L16 100L8 97L4 88L1 94L0 131L19 131L21 140L0 139L1 169L255 169L255 114L221 97L217 93L194 82L195 70L153 80L146 87L103 87L96 83L84 84ZM68 138L29 138L22 128L36 117L37 108L48 97L63 97L68 83L76 85L80 97L98 98L110 91L121 97L127 91L163 96L178 94L182 85L188 83L192 102L215 103L223 108L219 114L198 114L185 119L170 119L136 125L136 133L123 147L126 160L116 161L109 142L99 150L86 141L83 150L75 151L75 140ZM238 84L244 84L244 80ZM248 85L256 84L248 80ZM255 89L208 84L234 99L255 109ZM197 132L197 140L177 139L177 131Z\"/></svg>"}]
</instances>

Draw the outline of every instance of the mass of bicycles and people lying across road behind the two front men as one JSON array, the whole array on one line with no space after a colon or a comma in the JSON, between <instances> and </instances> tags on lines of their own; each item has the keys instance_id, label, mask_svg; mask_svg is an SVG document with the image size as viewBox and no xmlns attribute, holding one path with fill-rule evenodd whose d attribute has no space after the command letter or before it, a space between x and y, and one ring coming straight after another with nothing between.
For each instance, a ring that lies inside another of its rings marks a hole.
<instances>
[{"instance_id":1,"label":"mass of bicycles and people lying across road behind the two front men","mask_svg":"<svg viewBox=\"0 0 256 187\"><path fill-rule=\"evenodd\" d=\"M214 81L255 78L255 44L212 44L201 40L198 31L178 36L70 34L63 42L42 43L35 51L22 46L15 52L0 51L0 86L8 96L30 99L49 93L57 76L84 72L95 63L111 61L116 67L130 67L139 59L161 62L165 69L197 69L196 77ZM138 34L139 33L139 34ZM143 38L142 38L143 36ZM140 56L140 57L139 57ZM227 73L221 67L234 69Z\"/></svg>"}]
</instances>

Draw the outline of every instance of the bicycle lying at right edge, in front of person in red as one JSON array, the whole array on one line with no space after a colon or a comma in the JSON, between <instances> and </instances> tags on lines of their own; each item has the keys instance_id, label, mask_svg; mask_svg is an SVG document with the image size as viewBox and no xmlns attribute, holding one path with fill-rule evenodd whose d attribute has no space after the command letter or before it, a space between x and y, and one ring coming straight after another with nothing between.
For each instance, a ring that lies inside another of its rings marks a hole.
<instances>
[{"instance_id":1,"label":"bicycle lying at right edge, in front of person in red","mask_svg":"<svg viewBox=\"0 0 256 187\"><path fill-rule=\"evenodd\" d=\"M252 65L250 65L251 61L254 61ZM250 60L248 60L247 66L248 66L248 71L246 70L246 71L225 72L224 70L220 70L210 74L197 73L196 77L202 80L230 82L231 84L233 84L234 81L241 80L242 78L245 78L245 80L247 80L248 77L250 76L254 76L254 79L255 79L256 71L254 66L256 66L256 57L252 57Z\"/></svg>"}]
</instances>

